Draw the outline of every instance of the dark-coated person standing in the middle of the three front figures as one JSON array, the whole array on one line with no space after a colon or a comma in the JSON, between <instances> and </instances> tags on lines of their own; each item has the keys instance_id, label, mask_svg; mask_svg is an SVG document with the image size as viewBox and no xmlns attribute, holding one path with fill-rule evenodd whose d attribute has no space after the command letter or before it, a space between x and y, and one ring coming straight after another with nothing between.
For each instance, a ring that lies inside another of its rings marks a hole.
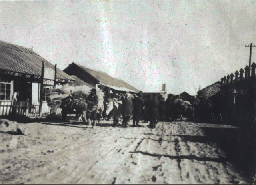
<instances>
[{"instance_id":1,"label":"dark-coated person standing in the middle of the three front figures","mask_svg":"<svg viewBox=\"0 0 256 185\"><path fill-rule=\"evenodd\" d=\"M142 113L143 106L144 106L144 99L143 99L143 94L140 91L138 93L138 97L135 97L133 100L132 119L133 119L134 127L135 127L135 122L137 127L140 126L139 122L140 122L140 116Z\"/></svg>"}]
</instances>

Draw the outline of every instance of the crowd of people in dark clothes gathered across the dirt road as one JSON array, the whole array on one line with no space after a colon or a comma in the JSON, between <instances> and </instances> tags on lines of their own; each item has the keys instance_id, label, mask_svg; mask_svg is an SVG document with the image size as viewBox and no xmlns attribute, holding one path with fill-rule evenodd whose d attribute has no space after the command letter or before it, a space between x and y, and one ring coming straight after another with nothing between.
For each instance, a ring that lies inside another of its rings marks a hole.
<instances>
[{"instance_id":1,"label":"crowd of people in dark clothes gathered across the dirt road","mask_svg":"<svg viewBox=\"0 0 256 185\"><path fill-rule=\"evenodd\" d=\"M113 96L109 93L105 94L105 102L109 103L113 101ZM121 114L123 117L122 124L127 127L130 118L132 117L133 127L140 127L140 120L143 119L144 123L150 123L148 126L150 128L155 128L156 124L162 120L163 115L166 115L167 119L177 120L182 119L182 115L178 112L181 107L176 101L179 100L179 95L169 94L166 101L162 95L148 94L143 95L140 91L138 94L131 95L129 93L119 94L116 101L122 101ZM99 121L99 115L97 111L98 105L98 95L96 89L93 88L87 99L88 109L86 112L86 119L88 120L88 125L95 125L95 121ZM105 108L106 109L106 106ZM105 115L106 110L103 110L102 117L107 120L110 119L111 113Z\"/></svg>"}]
</instances>

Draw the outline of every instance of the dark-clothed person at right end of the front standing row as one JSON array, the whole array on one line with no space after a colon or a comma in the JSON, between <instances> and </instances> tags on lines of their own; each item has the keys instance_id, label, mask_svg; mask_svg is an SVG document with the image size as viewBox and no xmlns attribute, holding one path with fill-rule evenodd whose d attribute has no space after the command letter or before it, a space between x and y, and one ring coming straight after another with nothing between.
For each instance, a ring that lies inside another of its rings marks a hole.
<instances>
[{"instance_id":1,"label":"dark-clothed person at right end of the front standing row","mask_svg":"<svg viewBox=\"0 0 256 185\"><path fill-rule=\"evenodd\" d=\"M156 123L159 121L159 101L156 94L153 94L153 99L149 101L150 113L150 128L156 128Z\"/></svg>"}]
</instances>

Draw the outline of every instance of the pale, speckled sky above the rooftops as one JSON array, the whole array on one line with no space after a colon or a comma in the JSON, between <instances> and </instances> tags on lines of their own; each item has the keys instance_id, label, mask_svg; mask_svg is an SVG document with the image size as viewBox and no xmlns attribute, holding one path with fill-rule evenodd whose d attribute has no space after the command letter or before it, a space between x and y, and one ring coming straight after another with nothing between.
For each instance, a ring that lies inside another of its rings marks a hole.
<instances>
[{"instance_id":1,"label":"pale, speckled sky above the rooftops","mask_svg":"<svg viewBox=\"0 0 256 185\"><path fill-rule=\"evenodd\" d=\"M196 95L249 65L256 1L0 1L0 39L143 92ZM256 47L252 48L252 62Z\"/></svg>"}]
</instances>

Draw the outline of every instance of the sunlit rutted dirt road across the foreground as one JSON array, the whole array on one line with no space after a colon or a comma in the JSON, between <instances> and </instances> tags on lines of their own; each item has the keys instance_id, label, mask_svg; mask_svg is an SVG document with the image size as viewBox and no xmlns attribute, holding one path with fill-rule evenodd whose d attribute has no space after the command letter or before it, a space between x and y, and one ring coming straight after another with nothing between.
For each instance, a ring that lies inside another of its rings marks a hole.
<instances>
[{"instance_id":1,"label":"sunlit rutted dirt road across the foreground","mask_svg":"<svg viewBox=\"0 0 256 185\"><path fill-rule=\"evenodd\" d=\"M212 124L160 122L156 129L94 129L80 122L27 123L17 149L1 150L0 183L244 184L226 153L205 135ZM130 123L131 124L131 123ZM222 125L223 127L223 125Z\"/></svg>"}]
</instances>

